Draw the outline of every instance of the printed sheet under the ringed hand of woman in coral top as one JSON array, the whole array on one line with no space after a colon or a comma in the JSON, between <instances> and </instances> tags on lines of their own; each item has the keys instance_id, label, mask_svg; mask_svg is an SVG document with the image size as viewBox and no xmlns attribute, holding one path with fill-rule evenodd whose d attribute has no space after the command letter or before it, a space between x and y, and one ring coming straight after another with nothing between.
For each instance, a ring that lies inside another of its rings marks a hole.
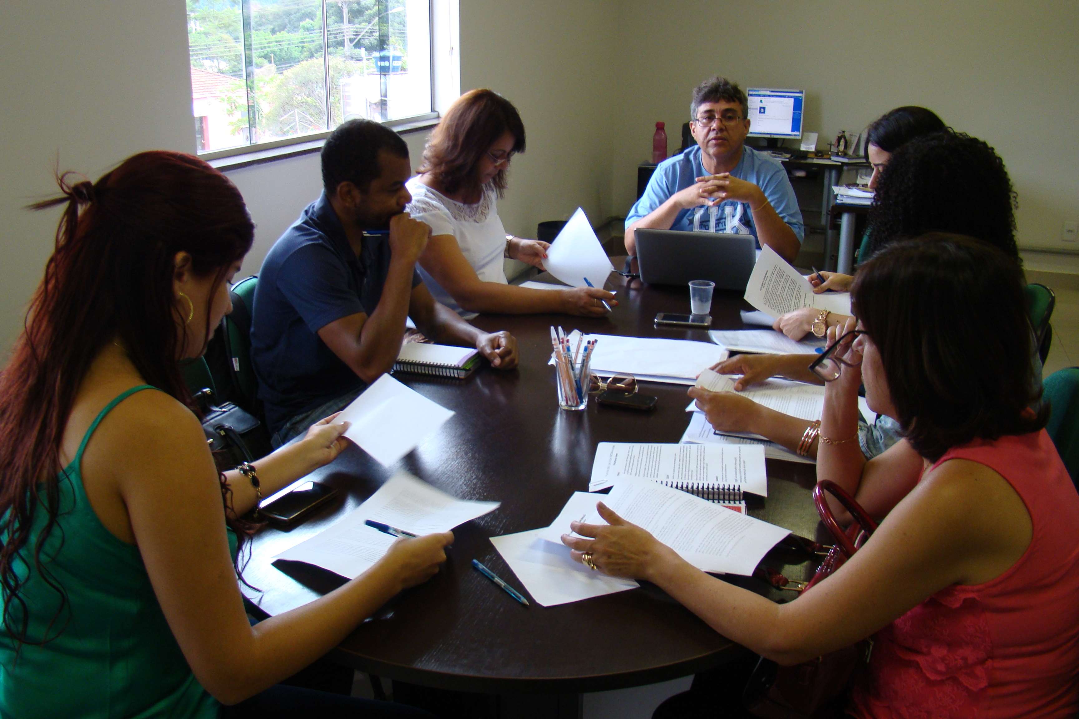
<instances>
[{"instance_id":1,"label":"printed sheet under the ringed hand of woman in coral top","mask_svg":"<svg viewBox=\"0 0 1079 719\"><path fill-rule=\"evenodd\" d=\"M648 480L627 478L615 484L606 497L592 495L592 498L627 522L648 530L704 571L751 575L765 553L790 534L782 527ZM570 518L579 518L574 514ZM595 509L595 501L584 521L605 524ZM560 513L541 536L561 543L561 535L568 531L569 523Z\"/></svg>"}]
</instances>

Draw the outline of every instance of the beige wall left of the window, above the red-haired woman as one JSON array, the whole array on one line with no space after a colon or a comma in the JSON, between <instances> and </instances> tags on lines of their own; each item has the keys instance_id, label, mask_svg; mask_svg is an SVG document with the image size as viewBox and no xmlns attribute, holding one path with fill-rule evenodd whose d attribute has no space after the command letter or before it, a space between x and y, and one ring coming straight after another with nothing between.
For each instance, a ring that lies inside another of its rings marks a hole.
<instances>
[{"instance_id":1,"label":"beige wall left of the window, above the red-haired woman","mask_svg":"<svg viewBox=\"0 0 1079 719\"><path fill-rule=\"evenodd\" d=\"M52 252L52 170L92 178L142 150L194 150L182 2L4 0L0 23L0 348ZM0 364L3 361L0 359Z\"/></svg>"}]
</instances>

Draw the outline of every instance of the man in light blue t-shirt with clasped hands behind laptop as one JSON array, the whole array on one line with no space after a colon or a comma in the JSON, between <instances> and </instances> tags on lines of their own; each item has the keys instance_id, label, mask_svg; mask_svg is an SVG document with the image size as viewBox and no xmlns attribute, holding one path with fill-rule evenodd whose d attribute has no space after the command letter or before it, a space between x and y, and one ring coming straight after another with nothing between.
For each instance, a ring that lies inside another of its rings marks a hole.
<instances>
[{"instance_id":1,"label":"man in light blue t-shirt with clasped hands behind laptop","mask_svg":"<svg viewBox=\"0 0 1079 719\"><path fill-rule=\"evenodd\" d=\"M689 105L695 147L659 163L626 218L626 249L639 227L751 234L788 262L805 227L794 189L778 160L746 147L746 93L724 78L700 83Z\"/></svg>"}]
</instances>

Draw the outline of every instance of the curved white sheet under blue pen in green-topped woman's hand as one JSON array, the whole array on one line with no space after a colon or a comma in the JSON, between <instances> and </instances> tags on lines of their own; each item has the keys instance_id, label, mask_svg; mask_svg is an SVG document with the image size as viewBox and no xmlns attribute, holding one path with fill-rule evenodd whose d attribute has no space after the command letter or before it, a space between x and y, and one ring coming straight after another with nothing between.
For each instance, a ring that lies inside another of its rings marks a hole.
<instances>
[{"instance_id":1,"label":"curved white sheet under blue pen in green-topped woman's hand","mask_svg":"<svg viewBox=\"0 0 1079 719\"><path fill-rule=\"evenodd\" d=\"M415 535L449 531L497 509L500 502L457 499L408 472L386 480L367 501L333 526L276 555L355 579L382 558L397 538L364 524L382 522Z\"/></svg>"}]
</instances>

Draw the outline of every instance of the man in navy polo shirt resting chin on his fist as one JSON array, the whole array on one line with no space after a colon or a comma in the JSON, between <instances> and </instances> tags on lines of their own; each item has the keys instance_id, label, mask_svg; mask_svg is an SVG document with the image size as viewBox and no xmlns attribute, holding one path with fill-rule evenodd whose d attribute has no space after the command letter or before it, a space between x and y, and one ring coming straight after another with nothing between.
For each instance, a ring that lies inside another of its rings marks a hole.
<instances>
[{"instance_id":1,"label":"man in navy polo shirt resting chin on his fist","mask_svg":"<svg viewBox=\"0 0 1079 719\"><path fill-rule=\"evenodd\" d=\"M351 120L326 140L323 193L267 254L251 310L251 363L274 446L345 407L400 350L405 320L435 342L517 365L508 332L482 332L435 302L415 273L431 227L411 219L408 146Z\"/></svg>"}]
</instances>

